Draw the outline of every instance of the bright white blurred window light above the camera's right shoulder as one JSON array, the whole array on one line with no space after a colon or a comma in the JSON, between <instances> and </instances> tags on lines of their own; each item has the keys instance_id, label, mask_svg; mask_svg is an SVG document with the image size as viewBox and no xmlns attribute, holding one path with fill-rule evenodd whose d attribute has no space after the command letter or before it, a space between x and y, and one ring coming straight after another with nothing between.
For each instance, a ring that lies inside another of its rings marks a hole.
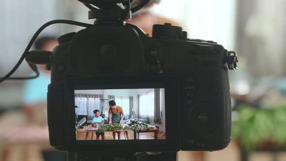
<instances>
[{"instance_id":1,"label":"bright white blurred window light above the camera's right shoulder","mask_svg":"<svg viewBox=\"0 0 286 161\"><path fill-rule=\"evenodd\" d=\"M236 0L161 0L152 12L182 24L190 38L234 49Z\"/></svg>"}]
</instances>

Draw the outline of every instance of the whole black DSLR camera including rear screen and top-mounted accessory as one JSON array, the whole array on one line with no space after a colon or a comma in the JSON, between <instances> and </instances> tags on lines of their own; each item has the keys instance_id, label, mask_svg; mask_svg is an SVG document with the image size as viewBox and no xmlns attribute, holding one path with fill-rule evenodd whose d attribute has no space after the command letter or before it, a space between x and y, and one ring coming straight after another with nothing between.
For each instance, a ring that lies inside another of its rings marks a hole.
<instances>
[{"instance_id":1,"label":"whole black DSLR camera including rear screen and top-mounted accessory","mask_svg":"<svg viewBox=\"0 0 286 161\"><path fill-rule=\"evenodd\" d=\"M155 24L149 36L124 21L149 0L131 9L130 0L79 1L91 9L95 24L60 36L47 56L52 146L69 152L176 152L220 150L229 144L228 69L237 68L235 51L214 41L189 39L170 23ZM109 120L111 100L122 107L122 121L130 128L105 131L104 140L94 139L94 127L75 128L76 113L91 122L98 109ZM130 124L132 120L139 121ZM132 128L136 124L156 128Z\"/></svg>"}]
</instances>

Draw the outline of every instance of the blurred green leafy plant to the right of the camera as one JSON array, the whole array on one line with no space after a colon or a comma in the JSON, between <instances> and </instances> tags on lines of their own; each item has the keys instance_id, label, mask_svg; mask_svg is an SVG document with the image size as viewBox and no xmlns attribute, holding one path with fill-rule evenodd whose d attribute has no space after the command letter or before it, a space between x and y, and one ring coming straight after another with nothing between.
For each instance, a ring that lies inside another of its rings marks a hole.
<instances>
[{"instance_id":1,"label":"blurred green leafy plant to the right of the camera","mask_svg":"<svg viewBox=\"0 0 286 161\"><path fill-rule=\"evenodd\" d=\"M241 105L238 113L232 123L232 140L244 149L286 147L286 105L263 109Z\"/></svg>"}]
</instances>

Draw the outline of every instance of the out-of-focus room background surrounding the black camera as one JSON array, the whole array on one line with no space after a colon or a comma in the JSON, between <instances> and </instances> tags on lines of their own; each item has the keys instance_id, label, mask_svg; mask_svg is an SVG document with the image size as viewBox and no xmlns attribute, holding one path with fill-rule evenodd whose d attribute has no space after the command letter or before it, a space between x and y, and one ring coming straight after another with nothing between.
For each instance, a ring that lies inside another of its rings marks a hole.
<instances>
[{"instance_id":1,"label":"out-of-focus room background surrounding the black camera","mask_svg":"<svg viewBox=\"0 0 286 161\"><path fill-rule=\"evenodd\" d=\"M233 108L230 145L216 152L180 151L179 161L286 161L285 6L286 0L161 0L149 9L152 16L181 25L189 38L213 40L238 52L238 69L229 71ZM77 0L1 0L0 77L14 67L41 25L53 19L93 23L87 11ZM58 37L80 29L57 24L39 37ZM13 76L31 74L23 62ZM27 127L40 131L40 136L27 132L26 137L9 137L21 132L19 128L27 128L19 124L28 119L20 113L29 115L23 110L25 83L0 83L0 161L29 156L27 161L60 161L65 156L54 155L46 128L29 124ZM37 139L31 141L29 136Z\"/></svg>"}]
</instances>

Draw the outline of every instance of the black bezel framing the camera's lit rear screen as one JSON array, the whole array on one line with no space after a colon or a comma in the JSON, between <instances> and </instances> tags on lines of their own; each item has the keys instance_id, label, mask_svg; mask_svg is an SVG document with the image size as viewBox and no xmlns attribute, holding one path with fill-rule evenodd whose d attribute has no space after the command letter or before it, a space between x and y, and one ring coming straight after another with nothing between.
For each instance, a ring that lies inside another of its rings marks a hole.
<instances>
[{"instance_id":1,"label":"black bezel framing the camera's lit rear screen","mask_svg":"<svg viewBox=\"0 0 286 161\"><path fill-rule=\"evenodd\" d=\"M75 130L75 90L93 89L141 89L164 88L165 90L165 130L164 140L76 140ZM179 79L177 77L104 77L68 79L64 83L65 135L69 151L178 151L179 150ZM174 107L178 107L175 108ZM169 118L169 119L168 119ZM173 118L173 119L172 119ZM177 118L177 119L174 119ZM177 121L178 126L174 127ZM171 130L172 128L172 130ZM96 146L95 146L96 145ZM111 148L112 147L112 148Z\"/></svg>"}]
</instances>

